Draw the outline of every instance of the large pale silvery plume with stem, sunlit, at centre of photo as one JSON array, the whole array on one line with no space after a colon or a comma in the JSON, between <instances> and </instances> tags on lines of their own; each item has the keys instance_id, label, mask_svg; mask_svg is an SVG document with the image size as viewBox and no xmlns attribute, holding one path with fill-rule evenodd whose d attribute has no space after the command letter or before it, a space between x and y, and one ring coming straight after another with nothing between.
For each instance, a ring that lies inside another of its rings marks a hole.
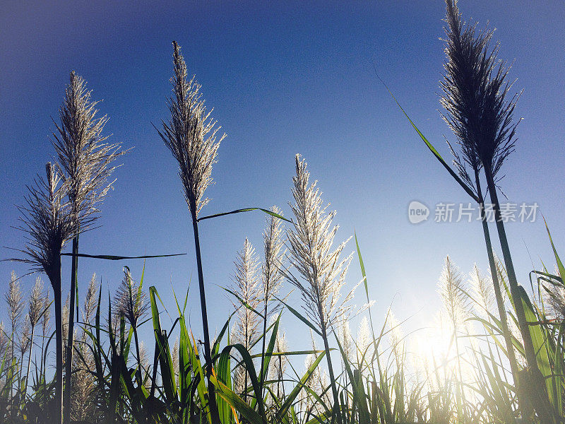
<instances>
[{"instance_id":1,"label":"large pale silvery plume with stem, sunlit, at centre of photo","mask_svg":"<svg viewBox=\"0 0 565 424\"><path fill-rule=\"evenodd\" d=\"M287 237L289 261L299 276L290 270L282 272L300 291L307 317L320 330L331 379L334 412L337 412L339 397L331 363L328 333L335 329L335 325L346 320L352 312L353 306L349 301L353 298L355 288L345 298L341 295L352 254L340 259L349 239L332 250L335 232L338 230L338 225L332 227L335 211L328 212L328 206L322 206L321 193L316 188L316 182L309 184L310 172L306 167L306 162L300 160L300 155L296 155L296 175L292 177L292 196L295 204L290 204L296 220L294 229L287 231Z\"/></svg>"}]
</instances>

